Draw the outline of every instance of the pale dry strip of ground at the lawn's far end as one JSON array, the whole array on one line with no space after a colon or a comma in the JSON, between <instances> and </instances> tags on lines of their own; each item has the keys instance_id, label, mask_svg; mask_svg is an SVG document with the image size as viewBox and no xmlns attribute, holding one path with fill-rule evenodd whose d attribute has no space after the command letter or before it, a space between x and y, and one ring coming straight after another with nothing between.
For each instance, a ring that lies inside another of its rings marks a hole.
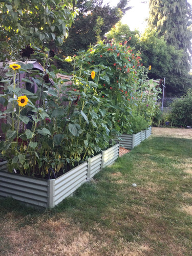
<instances>
[{"instance_id":1,"label":"pale dry strip of ground at the lawn's far end","mask_svg":"<svg viewBox=\"0 0 192 256\"><path fill-rule=\"evenodd\" d=\"M152 127L152 135L192 139L192 129Z\"/></svg>"}]
</instances>

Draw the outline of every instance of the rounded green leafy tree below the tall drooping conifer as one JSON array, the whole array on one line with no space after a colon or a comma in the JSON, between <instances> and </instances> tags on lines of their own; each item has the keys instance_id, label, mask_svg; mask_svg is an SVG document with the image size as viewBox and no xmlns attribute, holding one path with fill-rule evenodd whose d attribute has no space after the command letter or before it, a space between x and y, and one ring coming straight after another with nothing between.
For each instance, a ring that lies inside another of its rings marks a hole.
<instances>
[{"instance_id":1,"label":"rounded green leafy tree below the tall drooping conifer","mask_svg":"<svg viewBox=\"0 0 192 256\"><path fill-rule=\"evenodd\" d=\"M150 79L166 78L166 93L169 96L180 96L191 86L191 76L183 68L183 50L168 45L164 37L158 38L154 30L145 30L139 38L141 58L145 67L152 66L148 73Z\"/></svg>"}]
</instances>

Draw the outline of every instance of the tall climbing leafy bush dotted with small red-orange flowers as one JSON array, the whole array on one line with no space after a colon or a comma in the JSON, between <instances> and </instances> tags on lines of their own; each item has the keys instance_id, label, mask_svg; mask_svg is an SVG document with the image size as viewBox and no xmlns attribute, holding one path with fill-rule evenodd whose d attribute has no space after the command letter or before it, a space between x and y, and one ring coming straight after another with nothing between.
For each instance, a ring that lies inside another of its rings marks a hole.
<instances>
[{"instance_id":1,"label":"tall climbing leafy bush dotted with small red-orange flowers","mask_svg":"<svg viewBox=\"0 0 192 256\"><path fill-rule=\"evenodd\" d=\"M96 72L97 94L111 104L108 112L113 125L111 129L121 134L135 133L151 124L160 92L152 80L146 80L148 70L142 66L140 52L134 54L127 45L127 41L123 44L100 42L87 52L82 51L74 58L67 58L74 66L77 77L84 76L87 70ZM139 123L136 124L137 117L133 118L133 115L140 116Z\"/></svg>"}]
</instances>

